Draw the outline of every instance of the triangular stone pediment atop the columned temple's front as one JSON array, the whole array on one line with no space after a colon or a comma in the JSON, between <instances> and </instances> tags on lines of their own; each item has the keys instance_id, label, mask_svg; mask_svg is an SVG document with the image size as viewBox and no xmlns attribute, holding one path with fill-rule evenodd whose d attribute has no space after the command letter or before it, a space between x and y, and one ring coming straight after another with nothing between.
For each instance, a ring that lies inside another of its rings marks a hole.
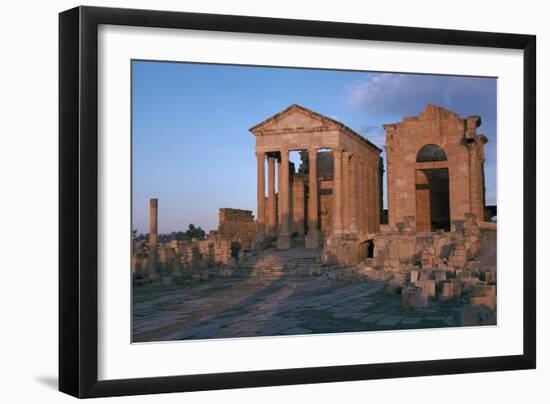
<instances>
[{"instance_id":1,"label":"triangular stone pediment atop the columned temple's front","mask_svg":"<svg viewBox=\"0 0 550 404\"><path fill-rule=\"evenodd\" d=\"M250 129L254 134L289 131L339 129L343 125L331 118L293 104L276 115L266 119Z\"/></svg>"}]
</instances>

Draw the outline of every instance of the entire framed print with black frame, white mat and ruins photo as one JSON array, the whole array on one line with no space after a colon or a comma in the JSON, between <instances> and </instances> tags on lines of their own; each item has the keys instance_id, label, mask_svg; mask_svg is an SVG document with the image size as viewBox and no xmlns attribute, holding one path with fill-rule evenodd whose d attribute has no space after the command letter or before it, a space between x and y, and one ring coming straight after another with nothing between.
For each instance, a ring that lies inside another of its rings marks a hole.
<instances>
[{"instance_id":1,"label":"entire framed print with black frame, white mat and ruins photo","mask_svg":"<svg viewBox=\"0 0 550 404\"><path fill-rule=\"evenodd\" d=\"M534 36L59 22L61 391L535 367Z\"/></svg>"}]
</instances>

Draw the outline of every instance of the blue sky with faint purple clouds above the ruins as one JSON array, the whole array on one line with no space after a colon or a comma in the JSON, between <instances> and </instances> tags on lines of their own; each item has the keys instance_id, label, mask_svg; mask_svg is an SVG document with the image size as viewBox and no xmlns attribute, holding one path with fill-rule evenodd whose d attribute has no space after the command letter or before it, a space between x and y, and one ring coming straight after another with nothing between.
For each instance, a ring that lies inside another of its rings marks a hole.
<instances>
[{"instance_id":1,"label":"blue sky with faint purple clouds above the ruins","mask_svg":"<svg viewBox=\"0 0 550 404\"><path fill-rule=\"evenodd\" d=\"M248 129L294 103L381 148L382 124L417 115L427 103L480 115L478 133L489 139L487 203L494 204L496 87L493 78L133 61L133 227L148 232L152 197L161 233L189 223L215 229L222 207L255 211Z\"/></svg>"}]
</instances>

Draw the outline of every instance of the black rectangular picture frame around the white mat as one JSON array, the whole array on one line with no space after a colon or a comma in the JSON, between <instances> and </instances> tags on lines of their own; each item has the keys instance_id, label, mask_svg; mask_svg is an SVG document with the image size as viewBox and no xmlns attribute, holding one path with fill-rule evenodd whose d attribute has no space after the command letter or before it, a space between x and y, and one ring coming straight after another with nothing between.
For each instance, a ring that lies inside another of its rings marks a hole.
<instances>
[{"instance_id":1,"label":"black rectangular picture frame around the white mat","mask_svg":"<svg viewBox=\"0 0 550 404\"><path fill-rule=\"evenodd\" d=\"M523 354L98 381L98 26L277 34L523 51ZM533 369L536 366L536 37L77 7L59 15L59 389L103 397Z\"/></svg>"}]
</instances>

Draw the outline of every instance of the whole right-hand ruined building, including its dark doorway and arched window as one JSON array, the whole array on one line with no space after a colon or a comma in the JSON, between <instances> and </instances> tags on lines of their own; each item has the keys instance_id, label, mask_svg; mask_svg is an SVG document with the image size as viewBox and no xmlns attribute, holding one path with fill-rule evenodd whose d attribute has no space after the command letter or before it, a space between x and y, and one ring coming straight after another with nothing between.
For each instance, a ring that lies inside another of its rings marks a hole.
<instances>
[{"instance_id":1,"label":"whole right-hand ruined building, including its dark doorway and arched window","mask_svg":"<svg viewBox=\"0 0 550 404\"><path fill-rule=\"evenodd\" d=\"M418 231L451 230L473 213L484 218L484 135L479 116L465 119L430 105L417 117L384 125L389 224L414 216Z\"/></svg>"}]
</instances>

